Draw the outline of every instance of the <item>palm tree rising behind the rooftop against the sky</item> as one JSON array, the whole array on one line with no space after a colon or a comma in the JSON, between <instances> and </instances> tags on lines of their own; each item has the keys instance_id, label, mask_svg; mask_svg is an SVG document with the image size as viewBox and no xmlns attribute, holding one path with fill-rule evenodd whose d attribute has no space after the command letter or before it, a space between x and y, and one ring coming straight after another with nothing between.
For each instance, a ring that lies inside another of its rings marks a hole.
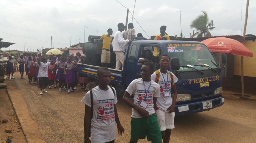
<instances>
[{"instance_id":1,"label":"palm tree rising behind the rooftop against the sky","mask_svg":"<svg viewBox=\"0 0 256 143\"><path fill-rule=\"evenodd\" d=\"M214 23L213 20L209 20L209 17L207 15L206 11L202 11L204 14L199 15L198 17L196 17L195 20L192 21L190 28L195 28L198 32L196 32L193 37L195 35L197 35L197 37L202 37L204 34L204 37L212 37L212 35L210 34L210 30L214 29Z\"/></svg>"}]
</instances>

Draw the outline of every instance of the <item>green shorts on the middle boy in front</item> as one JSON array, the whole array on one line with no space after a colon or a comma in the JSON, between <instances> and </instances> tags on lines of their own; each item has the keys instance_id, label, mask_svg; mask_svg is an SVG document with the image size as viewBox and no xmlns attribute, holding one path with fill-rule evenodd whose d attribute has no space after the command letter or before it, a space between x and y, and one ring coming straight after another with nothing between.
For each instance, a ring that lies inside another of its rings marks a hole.
<instances>
[{"instance_id":1,"label":"green shorts on the middle boy in front","mask_svg":"<svg viewBox=\"0 0 256 143\"><path fill-rule=\"evenodd\" d=\"M131 140L137 141L146 138L153 143L162 142L162 134L155 114L148 118L132 118L131 120Z\"/></svg>"}]
</instances>

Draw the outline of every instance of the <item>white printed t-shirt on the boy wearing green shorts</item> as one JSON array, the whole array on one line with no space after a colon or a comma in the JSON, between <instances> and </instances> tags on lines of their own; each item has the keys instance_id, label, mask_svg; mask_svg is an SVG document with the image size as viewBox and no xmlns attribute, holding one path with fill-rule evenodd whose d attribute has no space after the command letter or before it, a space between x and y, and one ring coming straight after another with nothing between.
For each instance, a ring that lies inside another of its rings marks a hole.
<instances>
[{"instance_id":1,"label":"white printed t-shirt on the boy wearing green shorts","mask_svg":"<svg viewBox=\"0 0 256 143\"><path fill-rule=\"evenodd\" d=\"M151 85L150 85L151 83ZM145 86L144 86L145 84ZM160 97L160 87L155 81L144 81L142 78L133 80L130 85L127 87L126 91L130 95L134 95L134 104L140 108L145 109L149 112L149 115L155 113L153 97ZM149 87L150 85L150 87ZM147 92L147 94L146 94ZM137 110L132 108L132 117L133 118L142 118Z\"/></svg>"}]
</instances>

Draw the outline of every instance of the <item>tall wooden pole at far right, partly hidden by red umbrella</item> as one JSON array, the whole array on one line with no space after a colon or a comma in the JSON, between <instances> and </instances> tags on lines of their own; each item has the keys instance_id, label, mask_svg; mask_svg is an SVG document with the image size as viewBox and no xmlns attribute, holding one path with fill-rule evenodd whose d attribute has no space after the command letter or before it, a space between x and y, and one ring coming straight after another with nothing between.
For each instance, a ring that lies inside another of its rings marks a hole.
<instances>
[{"instance_id":1,"label":"tall wooden pole at far right, partly hidden by red umbrella","mask_svg":"<svg viewBox=\"0 0 256 143\"><path fill-rule=\"evenodd\" d=\"M245 26L243 27L243 39L244 39L244 40L245 40L245 32L246 32L247 19L248 19L249 1L250 1L250 0L247 0L246 10L245 10ZM242 97L244 97L244 83L243 83L243 56L241 56L241 84L242 84Z\"/></svg>"}]
</instances>

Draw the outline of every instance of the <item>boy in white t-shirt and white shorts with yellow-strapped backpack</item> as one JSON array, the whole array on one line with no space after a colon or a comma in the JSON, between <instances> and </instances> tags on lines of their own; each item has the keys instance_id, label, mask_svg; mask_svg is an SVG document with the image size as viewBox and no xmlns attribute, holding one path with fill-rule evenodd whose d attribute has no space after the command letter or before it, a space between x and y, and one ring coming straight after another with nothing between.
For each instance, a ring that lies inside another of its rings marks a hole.
<instances>
[{"instance_id":1,"label":"boy in white t-shirt and white shorts with yellow-strapped backpack","mask_svg":"<svg viewBox=\"0 0 256 143\"><path fill-rule=\"evenodd\" d=\"M162 54L159 57L160 69L151 75L151 80L160 85L160 97L157 99L157 120L162 132L163 143L169 143L171 129L174 129L174 108L177 98L175 83L178 78L167 70L170 65L170 57ZM171 95L171 89L173 94Z\"/></svg>"}]
</instances>

